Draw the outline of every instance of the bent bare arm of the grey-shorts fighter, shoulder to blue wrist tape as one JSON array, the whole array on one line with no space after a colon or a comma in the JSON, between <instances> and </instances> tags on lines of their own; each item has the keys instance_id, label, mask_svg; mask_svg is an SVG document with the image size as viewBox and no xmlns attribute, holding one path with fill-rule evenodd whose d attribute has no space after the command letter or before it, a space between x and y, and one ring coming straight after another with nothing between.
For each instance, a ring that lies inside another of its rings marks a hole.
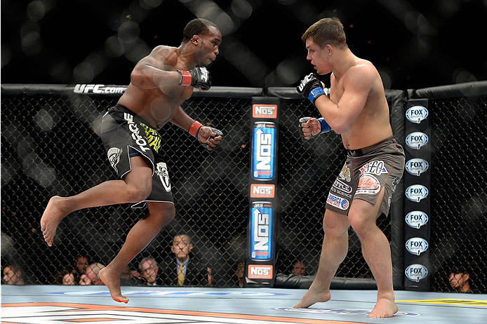
<instances>
[{"instance_id":1,"label":"bent bare arm of the grey-shorts fighter, shoulder to blue wrist tape","mask_svg":"<svg viewBox=\"0 0 487 324\"><path fill-rule=\"evenodd\" d=\"M338 134L346 133L359 118L374 81L373 70L367 65L352 67L343 77L344 90L338 103L326 95L314 102L321 116Z\"/></svg>"}]
</instances>

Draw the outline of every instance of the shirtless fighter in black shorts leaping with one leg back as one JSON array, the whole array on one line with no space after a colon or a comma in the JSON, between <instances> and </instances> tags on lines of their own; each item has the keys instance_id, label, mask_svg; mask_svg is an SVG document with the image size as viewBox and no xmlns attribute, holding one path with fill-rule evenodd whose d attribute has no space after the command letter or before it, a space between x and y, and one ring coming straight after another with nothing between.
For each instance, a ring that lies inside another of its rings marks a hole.
<instances>
[{"instance_id":1,"label":"shirtless fighter in black shorts leaping with one leg back","mask_svg":"<svg viewBox=\"0 0 487 324\"><path fill-rule=\"evenodd\" d=\"M159 155L161 135L157 130L170 121L210 151L222 140L220 130L202 126L180 107L191 97L193 87L210 88L205 67L215 60L221 41L220 30L213 22L195 19L186 25L178 48L157 46L142 58L133 69L126 92L102 121L102 141L119 180L102 182L76 196L54 196L42 215L41 230L51 246L59 222L74 210L147 203L149 214L134 225L118 255L99 274L116 302L128 302L120 289L120 275L128 262L175 216L168 169ZM170 138L168 134L166 140Z\"/></svg>"}]
</instances>

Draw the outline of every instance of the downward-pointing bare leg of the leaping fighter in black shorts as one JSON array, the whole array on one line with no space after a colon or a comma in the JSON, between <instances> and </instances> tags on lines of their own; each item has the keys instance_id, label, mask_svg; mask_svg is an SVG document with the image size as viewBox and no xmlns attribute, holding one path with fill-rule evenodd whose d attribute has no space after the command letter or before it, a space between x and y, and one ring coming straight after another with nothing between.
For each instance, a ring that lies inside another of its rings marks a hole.
<instances>
[{"instance_id":1,"label":"downward-pointing bare leg of the leaping fighter in black shorts","mask_svg":"<svg viewBox=\"0 0 487 324\"><path fill-rule=\"evenodd\" d=\"M128 302L128 298L121 295L120 290L120 274L125 266L152 241L164 225L173 220L175 215L173 203L147 202L147 205L149 214L132 227L119 254L100 270L100 279L107 285L115 302Z\"/></svg>"}]
</instances>

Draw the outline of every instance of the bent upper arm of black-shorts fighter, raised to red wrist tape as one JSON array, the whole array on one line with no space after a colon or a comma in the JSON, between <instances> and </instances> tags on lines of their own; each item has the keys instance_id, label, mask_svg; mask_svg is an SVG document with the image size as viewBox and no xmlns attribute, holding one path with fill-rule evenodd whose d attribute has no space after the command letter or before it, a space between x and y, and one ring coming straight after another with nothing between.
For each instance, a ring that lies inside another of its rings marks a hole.
<instances>
[{"instance_id":1,"label":"bent upper arm of black-shorts fighter, raised to red wrist tape","mask_svg":"<svg viewBox=\"0 0 487 324\"><path fill-rule=\"evenodd\" d=\"M131 73L131 83L142 89L155 89L174 86L180 82L181 75L176 71L166 71L166 56L170 50L158 46L145 58L142 58Z\"/></svg>"}]
</instances>

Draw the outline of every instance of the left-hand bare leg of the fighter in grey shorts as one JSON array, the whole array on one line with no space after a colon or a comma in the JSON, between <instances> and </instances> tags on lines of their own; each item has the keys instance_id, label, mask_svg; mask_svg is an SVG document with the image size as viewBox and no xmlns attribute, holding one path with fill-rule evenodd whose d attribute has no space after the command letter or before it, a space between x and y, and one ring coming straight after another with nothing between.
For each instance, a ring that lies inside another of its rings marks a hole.
<instances>
[{"instance_id":1,"label":"left-hand bare leg of the fighter in grey shorts","mask_svg":"<svg viewBox=\"0 0 487 324\"><path fill-rule=\"evenodd\" d=\"M305 309L316 302L328 302L330 300L331 279L335 276L338 266L347 256L349 226L347 216L326 210L323 218L325 237L323 238L318 271L309 290L294 308Z\"/></svg>"}]
</instances>

